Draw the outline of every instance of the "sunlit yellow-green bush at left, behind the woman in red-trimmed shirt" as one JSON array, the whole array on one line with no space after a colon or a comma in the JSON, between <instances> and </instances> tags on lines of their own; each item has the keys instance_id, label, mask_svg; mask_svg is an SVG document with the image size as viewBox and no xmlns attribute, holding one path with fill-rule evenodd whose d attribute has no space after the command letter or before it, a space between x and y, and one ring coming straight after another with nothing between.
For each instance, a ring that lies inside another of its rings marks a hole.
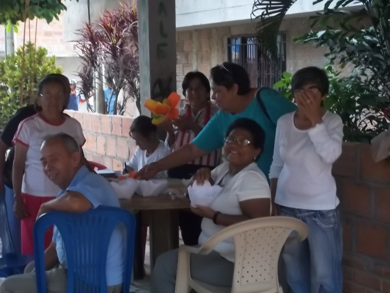
<instances>
[{"instance_id":1,"label":"sunlit yellow-green bush at left, behind the woman in red-trimmed shirt","mask_svg":"<svg viewBox=\"0 0 390 293\"><path fill-rule=\"evenodd\" d=\"M15 55L0 60L0 128L4 127L21 105L34 101L39 80L49 73L62 73L61 67L55 65L55 57L46 57L47 53L45 48L38 47L34 54L34 44L25 45L22 100L22 49L18 48Z\"/></svg>"}]
</instances>

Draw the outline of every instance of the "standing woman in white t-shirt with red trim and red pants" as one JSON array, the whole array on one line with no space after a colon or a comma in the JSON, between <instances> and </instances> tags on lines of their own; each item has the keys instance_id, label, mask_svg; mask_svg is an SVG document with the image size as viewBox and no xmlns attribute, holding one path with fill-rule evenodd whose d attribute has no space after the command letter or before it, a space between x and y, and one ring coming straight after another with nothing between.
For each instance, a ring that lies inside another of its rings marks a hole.
<instances>
[{"instance_id":1,"label":"standing woman in white t-shirt with red trim and red pants","mask_svg":"<svg viewBox=\"0 0 390 293\"><path fill-rule=\"evenodd\" d=\"M49 74L38 84L35 109L37 114L23 120L12 140L15 158L12 170L14 212L21 220L22 254L33 254L32 228L41 204L58 195L60 188L43 173L40 161L43 138L64 132L80 147L85 143L80 123L64 114L69 102L69 80L62 74ZM85 158L83 158L84 162ZM53 230L45 234L45 248L51 243Z\"/></svg>"}]
</instances>

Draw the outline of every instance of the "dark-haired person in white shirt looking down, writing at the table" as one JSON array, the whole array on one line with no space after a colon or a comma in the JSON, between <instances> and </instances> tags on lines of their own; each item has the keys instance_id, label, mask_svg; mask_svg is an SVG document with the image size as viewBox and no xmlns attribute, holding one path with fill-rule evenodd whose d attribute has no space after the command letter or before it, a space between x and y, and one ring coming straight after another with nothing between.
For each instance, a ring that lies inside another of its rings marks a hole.
<instances>
[{"instance_id":1,"label":"dark-haired person in white shirt looking down, writing at the table","mask_svg":"<svg viewBox=\"0 0 390 293\"><path fill-rule=\"evenodd\" d=\"M130 137L137 145L133 156L122 173L138 172L145 165L156 162L171 153L167 142L161 141L157 137L157 126L152 124L152 118L148 116L138 116L131 123ZM167 178L168 172L163 171L155 178Z\"/></svg>"}]
</instances>

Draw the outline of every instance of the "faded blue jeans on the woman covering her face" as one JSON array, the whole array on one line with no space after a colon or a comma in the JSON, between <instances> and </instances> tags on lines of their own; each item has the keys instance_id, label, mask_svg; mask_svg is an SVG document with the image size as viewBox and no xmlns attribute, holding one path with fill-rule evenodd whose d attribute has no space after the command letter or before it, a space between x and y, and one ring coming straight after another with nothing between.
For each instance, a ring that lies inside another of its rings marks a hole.
<instances>
[{"instance_id":1,"label":"faded blue jeans on the woman covering her face","mask_svg":"<svg viewBox=\"0 0 390 293\"><path fill-rule=\"evenodd\" d=\"M279 206L279 216L303 221L303 242L285 244L283 260L293 293L342 293L342 225L337 209L312 211Z\"/></svg>"}]
</instances>

